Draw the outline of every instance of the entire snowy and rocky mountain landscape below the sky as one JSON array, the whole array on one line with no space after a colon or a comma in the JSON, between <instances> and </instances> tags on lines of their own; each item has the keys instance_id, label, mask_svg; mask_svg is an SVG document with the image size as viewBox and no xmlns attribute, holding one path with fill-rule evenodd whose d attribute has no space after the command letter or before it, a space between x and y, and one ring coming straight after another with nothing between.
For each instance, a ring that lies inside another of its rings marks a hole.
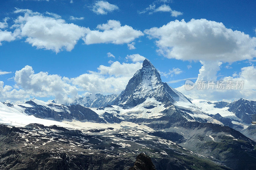
<instances>
[{"instance_id":1,"label":"entire snowy and rocky mountain landscape below the sky","mask_svg":"<svg viewBox=\"0 0 256 170\"><path fill-rule=\"evenodd\" d=\"M255 112L188 99L145 59L119 95L0 102L0 169L254 169Z\"/></svg>"}]
</instances>

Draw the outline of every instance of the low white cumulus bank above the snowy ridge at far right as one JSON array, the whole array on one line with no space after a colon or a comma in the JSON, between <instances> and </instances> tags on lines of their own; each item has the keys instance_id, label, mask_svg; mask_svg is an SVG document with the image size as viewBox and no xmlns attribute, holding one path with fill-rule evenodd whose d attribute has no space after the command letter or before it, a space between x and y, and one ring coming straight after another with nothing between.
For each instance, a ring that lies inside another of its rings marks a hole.
<instances>
[{"instance_id":1,"label":"low white cumulus bank above the snowy ridge at far right","mask_svg":"<svg viewBox=\"0 0 256 170\"><path fill-rule=\"evenodd\" d=\"M237 100L239 98L245 98L249 100L256 100L256 68L254 66L243 67L241 71L233 76L224 77L219 82L225 82L224 89L217 88L217 82L214 81L214 87L207 90L208 82L205 82L205 89L197 89L198 84L195 85L194 89L186 90L185 85L176 88L178 91L185 94L187 97L194 99L205 99L205 100ZM230 83L231 82L231 83ZM239 88L229 89L227 84L233 84L236 86L238 82ZM241 89L241 82L244 82Z\"/></svg>"}]
</instances>

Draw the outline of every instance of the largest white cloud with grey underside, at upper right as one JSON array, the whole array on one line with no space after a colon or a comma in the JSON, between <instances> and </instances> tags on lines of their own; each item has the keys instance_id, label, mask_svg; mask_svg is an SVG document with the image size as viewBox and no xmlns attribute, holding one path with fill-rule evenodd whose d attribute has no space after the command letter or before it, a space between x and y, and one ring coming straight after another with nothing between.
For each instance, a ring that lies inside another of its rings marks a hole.
<instances>
[{"instance_id":1,"label":"largest white cloud with grey underside, at upper right","mask_svg":"<svg viewBox=\"0 0 256 170\"><path fill-rule=\"evenodd\" d=\"M144 31L168 58L234 62L256 55L256 38L206 19L175 20Z\"/></svg>"}]
</instances>

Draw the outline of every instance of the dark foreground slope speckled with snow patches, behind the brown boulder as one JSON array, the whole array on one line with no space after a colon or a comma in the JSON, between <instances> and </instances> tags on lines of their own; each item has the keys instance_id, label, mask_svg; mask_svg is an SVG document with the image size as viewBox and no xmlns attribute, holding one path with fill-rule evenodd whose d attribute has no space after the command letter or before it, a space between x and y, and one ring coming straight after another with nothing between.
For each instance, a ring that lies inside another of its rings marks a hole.
<instances>
[{"instance_id":1,"label":"dark foreground slope speckled with snow patches, behind the brown boulder","mask_svg":"<svg viewBox=\"0 0 256 170\"><path fill-rule=\"evenodd\" d=\"M141 130L98 130L86 134L35 123L25 128L0 125L0 169L128 170L138 154L134 165L143 170L153 170L154 165L159 170L226 169L163 138L145 139L149 134ZM140 152L153 155L154 165Z\"/></svg>"}]
</instances>

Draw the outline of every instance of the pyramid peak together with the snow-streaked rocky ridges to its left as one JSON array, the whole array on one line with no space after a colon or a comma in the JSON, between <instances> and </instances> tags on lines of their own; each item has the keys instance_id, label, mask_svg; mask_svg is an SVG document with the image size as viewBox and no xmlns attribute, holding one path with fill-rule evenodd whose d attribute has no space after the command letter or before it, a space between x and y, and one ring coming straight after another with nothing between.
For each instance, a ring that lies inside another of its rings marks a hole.
<instances>
[{"instance_id":1,"label":"pyramid peak together with the snow-streaked rocky ridges to its left","mask_svg":"<svg viewBox=\"0 0 256 170\"><path fill-rule=\"evenodd\" d=\"M12 106L7 107L12 109ZM142 68L136 71L119 95L90 94L67 105L33 99L15 107L19 107L18 112L56 121L74 119L113 123L133 120L141 123L167 119L172 122L222 124L202 112L182 93L162 82L159 72L148 59L143 61Z\"/></svg>"}]
</instances>

